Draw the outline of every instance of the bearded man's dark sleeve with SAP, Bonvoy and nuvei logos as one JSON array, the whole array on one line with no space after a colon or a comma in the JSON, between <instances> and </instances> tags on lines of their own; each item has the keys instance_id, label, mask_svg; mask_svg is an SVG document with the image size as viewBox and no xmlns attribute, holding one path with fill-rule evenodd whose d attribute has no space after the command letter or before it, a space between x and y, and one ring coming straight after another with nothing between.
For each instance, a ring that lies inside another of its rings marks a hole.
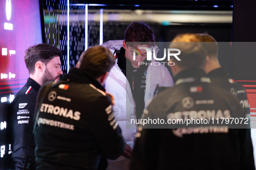
<instances>
[{"instance_id":1,"label":"bearded man's dark sleeve with SAP, Bonvoy and nuvei logos","mask_svg":"<svg viewBox=\"0 0 256 170\"><path fill-rule=\"evenodd\" d=\"M13 135L13 160L24 166L26 157L29 163L35 164L35 142L32 136L35 100L29 94L16 96L11 104L11 129ZM17 167L18 168L18 167Z\"/></svg>"}]
</instances>

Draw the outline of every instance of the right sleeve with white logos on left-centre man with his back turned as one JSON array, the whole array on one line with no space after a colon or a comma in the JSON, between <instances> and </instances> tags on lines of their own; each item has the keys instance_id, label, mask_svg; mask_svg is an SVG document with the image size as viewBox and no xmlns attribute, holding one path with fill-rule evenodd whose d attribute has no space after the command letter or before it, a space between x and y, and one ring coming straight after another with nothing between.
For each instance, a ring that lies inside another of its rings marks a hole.
<instances>
[{"instance_id":1,"label":"right sleeve with white logos on left-centre man with his back turned","mask_svg":"<svg viewBox=\"0 0 256 170\"><path fill-rule=\"evenodd\" d=\"M116 159L124 150L122 131L112 111L111 99L102 96L95 101L97 107L92 113L92 133L96 138L103 154L109 159Z\"/></svg>"}]
</instances>

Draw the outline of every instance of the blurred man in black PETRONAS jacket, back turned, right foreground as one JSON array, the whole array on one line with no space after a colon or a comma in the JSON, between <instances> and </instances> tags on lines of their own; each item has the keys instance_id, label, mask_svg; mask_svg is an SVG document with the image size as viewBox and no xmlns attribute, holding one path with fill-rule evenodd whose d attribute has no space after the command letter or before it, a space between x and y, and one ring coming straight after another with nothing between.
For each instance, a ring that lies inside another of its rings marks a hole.
<instances>
[{"instance_id":1,"label":"blurred man in black PETRONAS jacket, back turned, right foreground","mask_svg":"<svg viewBox=\"0 0 256 170\"><path fill-rule=\"evenodd\" d=\"M255 170L251 151L244 151L251 144L242 129L248 118L237 98L206 78L203 67L209 59L202 42L200 35L183 34L170 44L181 50L181 61L170 58L175 86L159 93L144 111L144 119L159 118L159 123L146 124L138 133L130 170ZM231 118L239 124L230 123ZM181 123L175 124L178 119Z\"/></svg>"}]
</instances>

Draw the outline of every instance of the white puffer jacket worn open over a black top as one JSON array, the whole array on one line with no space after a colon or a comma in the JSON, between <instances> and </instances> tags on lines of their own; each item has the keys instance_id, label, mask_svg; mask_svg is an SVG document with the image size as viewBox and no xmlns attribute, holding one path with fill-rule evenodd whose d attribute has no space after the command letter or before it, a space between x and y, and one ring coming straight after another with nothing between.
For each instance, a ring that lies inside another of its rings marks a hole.
<instances>
[{"instance_id":1,"label":"white puffer jacket worn open over a black top","mask_svg":"<svg viewBox=\"0 0 256 170\"><path fill-rule=\"evenodd\" d=\"M102 44L102 46L108 48L112 53L114 53L115 50L120 50L120 48L123 47L123 40L107 41ZM155 46L152 48L157 49L158 47ZM159 49L156 50L156 54L158 50ZM115 98L113 112L115 113L119 126L122 129L124 141L133 149L134 142L136 140L137 126L131 125L130 121L131 119L135 119L135 102L133 100L130 84L117 65L117 60L109 72L105 82L105 89ZM155 62L157 61L153 59L152 63ZM151 101L157 84L165 87L174 85L168 69L162 64L159 66L154 66L153 64L148 66L146 73L146 93L144 98L145 105L148 101ZM120 156L118 159L114 160L114 162L125 159L125 157ZM111 164L111 162L113 161L109 160L109 164Z\"/></svg>"}]
</instances>

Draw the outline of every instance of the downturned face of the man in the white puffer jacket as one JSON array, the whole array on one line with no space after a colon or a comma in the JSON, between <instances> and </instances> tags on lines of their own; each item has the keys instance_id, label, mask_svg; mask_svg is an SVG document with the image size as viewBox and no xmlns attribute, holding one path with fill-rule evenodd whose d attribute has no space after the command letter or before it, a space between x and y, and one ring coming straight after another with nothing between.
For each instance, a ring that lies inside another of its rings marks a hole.
<instances>
[{"instance_id":1,"label":"downturned face of the man in the white puffer jacket","mask_svg":"<svg viewBox=\"0 0 256 170\"><path fill-rule=\"evenodd\" d=\"M149 48L149 45L139 44L137 47L126 46L126 50L125 50L126 58L128 60L130 60L131 65L133 66L134 69L138 69L141 66L141 64L139 65L139 62L143 62L147 57L146 50L145 49L139 49L139 47ZM137 53L136 50L139 52L139 54ZM135 51L135 54L136 54L135 60L133 60L133 51Z\"/></svg>"}]
</instances>

